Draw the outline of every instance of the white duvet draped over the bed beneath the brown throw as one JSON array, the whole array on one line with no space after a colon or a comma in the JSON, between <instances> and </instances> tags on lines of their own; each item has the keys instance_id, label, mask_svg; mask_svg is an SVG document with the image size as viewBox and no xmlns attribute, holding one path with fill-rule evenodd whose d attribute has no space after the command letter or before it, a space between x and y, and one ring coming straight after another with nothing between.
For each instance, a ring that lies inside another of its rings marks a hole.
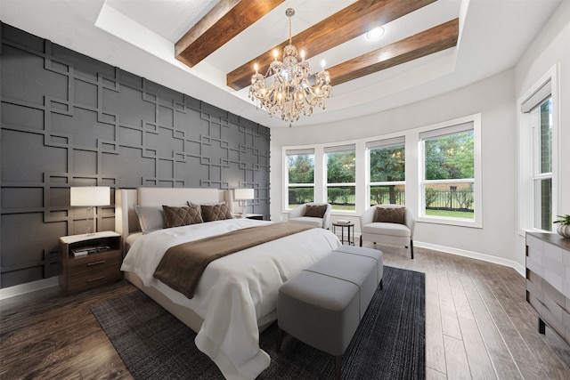
<instances>
[{"instance_id":1,"label":"white duvet draped over the bed beneath the brown throw","mask_svg":"<svg viewBox=\"0 0 570 380\"><path fill-rule=\"evenodd\" d=\"M279 287L340 247L338 238L329 230L312 229L225 256L208 265L192 299L152 274L169 247L265 223L232 219L154 231L136 239L121 267L147 287L167 288L173 302L204 319L196 346L228 379L253 379L269 366L269 355L259 348L257 326L276 319Z\"/></svg>"}]
</instances>

